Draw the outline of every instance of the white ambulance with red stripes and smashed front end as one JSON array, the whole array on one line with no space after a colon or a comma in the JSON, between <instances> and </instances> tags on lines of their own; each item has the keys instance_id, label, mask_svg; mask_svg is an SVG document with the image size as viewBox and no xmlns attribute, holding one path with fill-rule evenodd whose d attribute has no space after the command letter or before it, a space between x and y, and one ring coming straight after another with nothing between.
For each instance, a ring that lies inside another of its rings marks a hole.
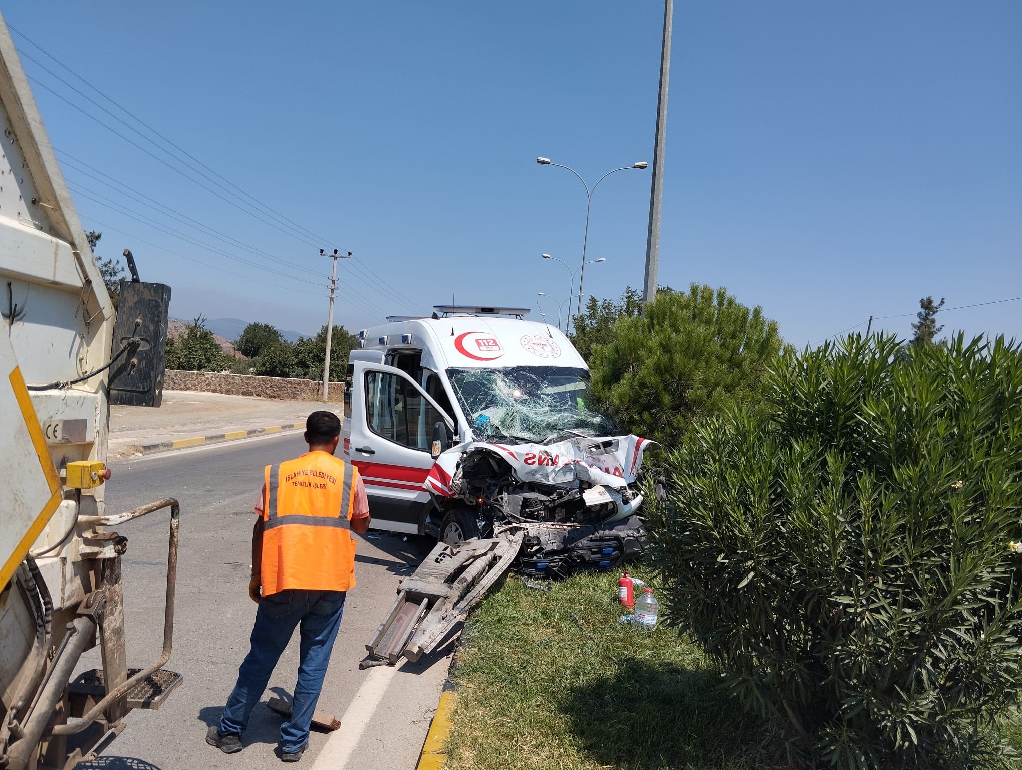
<instances>
[{"instance_id":1,"label":"white ambulance with red stripes and smashed front end","mask_svg":"<svg viewBox=\"0 0 1022 770\"><path fill-rule=\"evenodd\" d=\"M527 314L436 306L360 332L344 459L374 529L450 545L523 532L526 574L609 570L642 547L634 484L652 442L616 435L570 342Z\"/></svg>"}]
</instances>

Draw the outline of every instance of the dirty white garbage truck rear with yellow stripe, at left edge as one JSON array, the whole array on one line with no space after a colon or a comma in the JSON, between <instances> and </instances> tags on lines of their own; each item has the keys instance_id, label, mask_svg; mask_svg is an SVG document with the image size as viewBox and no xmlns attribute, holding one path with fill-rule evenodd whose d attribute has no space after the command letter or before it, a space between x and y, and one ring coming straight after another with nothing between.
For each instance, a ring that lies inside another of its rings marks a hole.
<instances>
[{"instance_id":1,"label":"dirty white garbage truck rear with yellow stripe, at left edge","mask_svg":"<svg viewBox=\"0 0 1022 770\"><path fill-rule=\"evenodd\" d=\"M178 502L104 504L110 405L160 403L170 287L126 251L114 309L2 16L0 132L0 768L71 768L181 681L162 668ZM164 640L132 668L117 528L144 515L168 524Z\"/></svg>"}]
</instances>

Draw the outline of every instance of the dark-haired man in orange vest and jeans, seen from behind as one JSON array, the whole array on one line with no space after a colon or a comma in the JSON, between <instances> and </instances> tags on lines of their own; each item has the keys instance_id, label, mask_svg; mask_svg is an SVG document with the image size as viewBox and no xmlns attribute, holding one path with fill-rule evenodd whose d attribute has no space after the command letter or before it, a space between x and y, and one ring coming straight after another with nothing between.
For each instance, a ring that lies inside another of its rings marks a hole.
<instances>
[{"instance_id":1,"label":"dark-haired man in orange vest and jeans, seen from behind","mask_svg":"<svg viewBox=\"0 0 1022 770\"><path fill-rule=\"evenodd\" d=\"M369 529L359 471L333 456L339 438L340 420L333 412L313 412L306 420L309 452L264 471L248 584L249 596L259 602L251 649L220 724L205 736L225 754L241 751L248 717L295 626L300 627L301 661L291 716L280 726L281 761L297 762L309 745L345 591L355 586L352 530Z\"/></svg>"}]
</instances>

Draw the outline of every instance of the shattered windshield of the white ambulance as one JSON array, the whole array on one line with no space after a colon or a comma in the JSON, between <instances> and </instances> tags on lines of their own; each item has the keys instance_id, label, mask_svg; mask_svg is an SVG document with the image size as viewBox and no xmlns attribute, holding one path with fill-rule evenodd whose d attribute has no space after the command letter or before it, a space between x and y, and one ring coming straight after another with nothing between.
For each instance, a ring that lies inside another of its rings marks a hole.
<instances>
[{"instance_id":1,"label":"shattered windshield of the white ambulance","mask_svg":"<svg viewBox=\"0 0 1022 770\"><path fill-rule=\"evenodd\" d=\"M558 366L448 369L476 438L536 444L566 436L609 436L609 417L592 406L589 372Z\"/></svg>"}]
</instances>

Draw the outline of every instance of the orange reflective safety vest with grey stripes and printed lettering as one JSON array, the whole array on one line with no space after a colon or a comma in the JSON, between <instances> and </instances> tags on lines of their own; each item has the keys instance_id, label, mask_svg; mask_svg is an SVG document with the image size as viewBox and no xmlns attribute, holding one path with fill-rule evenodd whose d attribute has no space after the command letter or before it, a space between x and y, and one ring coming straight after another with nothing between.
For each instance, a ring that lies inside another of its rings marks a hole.
<instances>
[{"instance_id":1,"label":"orange reflective safety vest with grey stripes and printed lettering","mask_svg":"<svg viewBox=\"0 0 1022 770\"><path fill-rule=\"evenodd\" d=\"M351 518L359 471L328 452L267 465L263 504L263 595L287 588L355 586Z\"/></svg>"}]
</instances>

